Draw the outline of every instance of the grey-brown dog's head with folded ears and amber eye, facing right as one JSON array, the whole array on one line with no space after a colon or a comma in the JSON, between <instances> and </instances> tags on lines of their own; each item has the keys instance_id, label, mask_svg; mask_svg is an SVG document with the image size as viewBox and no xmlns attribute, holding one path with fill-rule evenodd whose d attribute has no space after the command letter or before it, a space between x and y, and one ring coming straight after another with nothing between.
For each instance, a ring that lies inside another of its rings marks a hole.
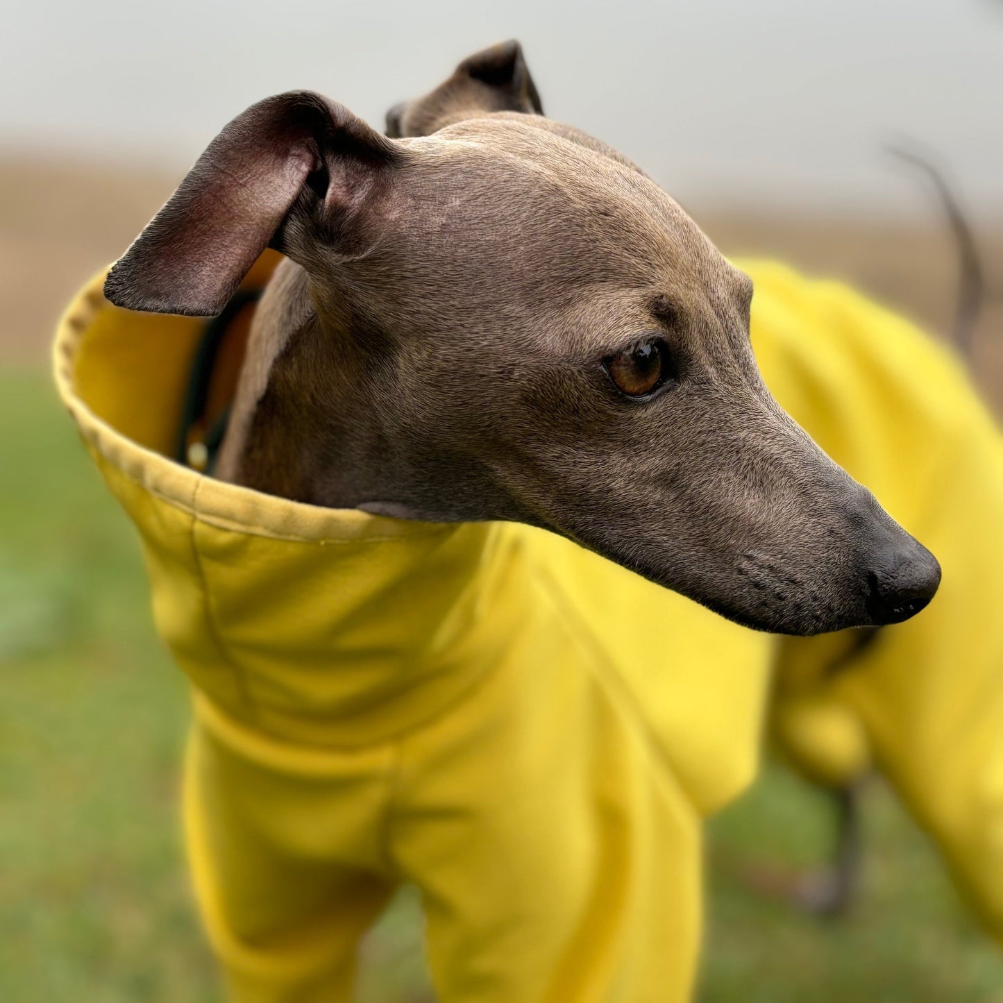
<instances>
[{"instance_id":1,"label":"grey-brown dog's head with folded ears and amber eye, facing right","mask_svg":"<svg viewBox=\"0 0 1003 1003\"><path fill-rule=\"evenodd\" d=\"M108 298L213 314L266 246L296 263L300 319L249 446L280 428L290 468L270 488L249 467L254 486L532 523L767 630L922 609L933 556L763 385L748 278L539 107L513 45L392 112L400 138L313 93L268 98L213 141Z\"/></svg>"}]
</instances>

